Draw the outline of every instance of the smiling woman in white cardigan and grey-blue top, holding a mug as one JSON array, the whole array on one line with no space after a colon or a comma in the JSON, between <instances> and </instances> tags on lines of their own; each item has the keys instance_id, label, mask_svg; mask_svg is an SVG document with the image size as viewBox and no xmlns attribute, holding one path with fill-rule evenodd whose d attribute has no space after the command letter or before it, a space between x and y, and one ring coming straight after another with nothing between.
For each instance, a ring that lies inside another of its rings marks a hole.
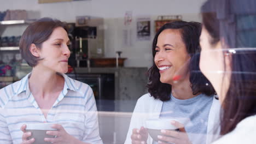
<instances>
[{"instance_id":1,"label":"smiling woman in white cardigan and grey-blue top, holding a mug","mask_svg":"<svg viewBox=\"0 0 256 144\"><path fill-rule=\"evenodd\" d=\"M220 105L199 70L200 33L199 22L185 21L166 23L156 33L149 93L137 101L125 143L210 143L214 139ZM170 124L179 132L162 130L159 141L153 141L144 128L148 118L176 118Z\"/></svg>"}]
</instances>

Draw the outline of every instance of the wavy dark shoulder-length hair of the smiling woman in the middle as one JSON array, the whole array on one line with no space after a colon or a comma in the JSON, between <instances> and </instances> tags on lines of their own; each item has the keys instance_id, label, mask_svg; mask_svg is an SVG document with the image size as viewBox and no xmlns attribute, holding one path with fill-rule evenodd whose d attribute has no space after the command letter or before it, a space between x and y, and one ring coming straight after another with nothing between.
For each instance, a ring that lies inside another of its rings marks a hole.
<instances>
[{"instance_id":1,"label":"wavy dark shoulder-length hair of the smiling woman in the middle","mask_svg":"<svg viewBox=\"0 0 256 144\"><path fill-rule=\"evenodd\" d=\"M185 21L174 21L166 23L162 26L159 31L155 34L152 45L153 54L153 66L148 70L149 83L147 85L148 92L155 99L160 99L161 101L170 100L170 94L172 91L172 86L167 83L161 83L160 73L158 67L154 62L155 57L155 47L158 43L159 34L165 29L179 29L182 34L183 42L186 46L187 52L190 55L189 71L190 71L190 83L193 94L203 93L206 95L213 95L215 93L213 86L210 81L206 79L199 69L200 60L200 45L199 37L201 33L201 23L199 22L185 22ZM206 85L208 83L208 86Z\"/></svg>"}]
</instances>

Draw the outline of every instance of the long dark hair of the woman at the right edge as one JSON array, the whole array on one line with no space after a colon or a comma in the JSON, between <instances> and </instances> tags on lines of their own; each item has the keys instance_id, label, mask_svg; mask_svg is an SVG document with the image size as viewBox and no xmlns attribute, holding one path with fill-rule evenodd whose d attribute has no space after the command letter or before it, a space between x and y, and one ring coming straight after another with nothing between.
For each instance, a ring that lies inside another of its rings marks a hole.
<instances>
[{"instance_id":1,"label":"long dark hair of the woman at the right edge","mask_svg":"<svg viewBox=\"0 0 256 144\"><path fill-rule=\"evenodd\" d=\"M234 130L242 119L256 114L256 50L247 49L256 47L255 8L255 0L208 0L201 7L211 45L224 39L225 46L236 50L231 55L230 86L220 115L222 135Z\"/></svg>"}]
</instances>

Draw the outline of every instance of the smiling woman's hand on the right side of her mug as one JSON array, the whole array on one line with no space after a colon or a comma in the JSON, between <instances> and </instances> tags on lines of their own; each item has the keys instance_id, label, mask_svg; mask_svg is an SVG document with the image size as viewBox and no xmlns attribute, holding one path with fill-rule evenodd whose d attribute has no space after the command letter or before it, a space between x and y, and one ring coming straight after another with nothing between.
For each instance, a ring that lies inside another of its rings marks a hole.
<instances>
[{"instance_id":1,"label":"smiling woman's hand on the right side of her mug","mask_svg":"<svg viewBox=\"0 0 256 144\"><path fill-rule=\"evenodd\" d=\"M158 143L167 144L166 142L171 142L175 144L192 144L183 124L177 121L171 121L171 124L179 128L179 131L161 130L163 135L158 136Z\"/></svg>"}]
</instances>

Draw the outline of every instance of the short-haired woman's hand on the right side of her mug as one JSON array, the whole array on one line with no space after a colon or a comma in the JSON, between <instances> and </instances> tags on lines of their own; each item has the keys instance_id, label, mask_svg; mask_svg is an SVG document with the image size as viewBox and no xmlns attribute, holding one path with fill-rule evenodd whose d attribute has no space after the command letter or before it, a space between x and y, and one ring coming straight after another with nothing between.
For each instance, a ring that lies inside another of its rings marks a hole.
<instances>
[{"instance_id":1,"label":"short-haired woman's hand on the right side of her mug","mask_svg":"<svg viewBox=\"0 0 256 144\"><path fill-rule=\"evenodd\" d=\"M62 127L60 124L53 124L52 128L57 129L56 131L46 131L47 135L53 135L56 136L55 138L48 138L45 137L44 141L46 142L52 142L52 143L75 143L77 139L73 137L72 135L69 135L66 130Z\"/></svg>"}]
</instances>

